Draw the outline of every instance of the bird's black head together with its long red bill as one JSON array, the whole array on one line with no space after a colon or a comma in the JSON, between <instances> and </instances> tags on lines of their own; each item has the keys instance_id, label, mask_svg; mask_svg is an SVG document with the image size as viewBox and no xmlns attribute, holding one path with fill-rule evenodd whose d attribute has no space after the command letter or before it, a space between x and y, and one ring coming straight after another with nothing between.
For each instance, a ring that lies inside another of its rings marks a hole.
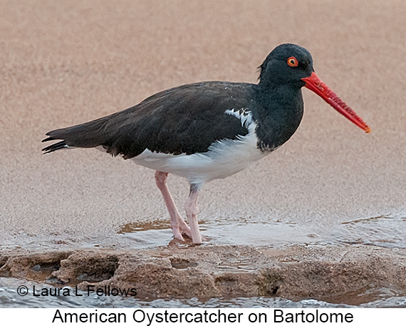
<instances>
[{"instance_id":1,"label":"bird's black head together with its long red bill","mask_svg":"<svg viewBox=\"0 0 406 326\"><path fill-rule=\"evenodd\" d=\"M318 78L313 70L311 54L301 46L296 44L276 46L259 69L260 86L273 88L290 85L298 89L305 86L365 132L370 132L370 127Z\"/></svg>"}]
</instances>

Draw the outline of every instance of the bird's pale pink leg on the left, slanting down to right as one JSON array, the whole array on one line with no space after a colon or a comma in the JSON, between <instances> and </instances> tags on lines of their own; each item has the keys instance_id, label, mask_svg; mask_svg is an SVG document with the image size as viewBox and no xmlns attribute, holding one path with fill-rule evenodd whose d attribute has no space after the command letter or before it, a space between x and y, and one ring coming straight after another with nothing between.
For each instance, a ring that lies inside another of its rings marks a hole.
<instances>
[{"instance_id":1,"label":"bird's pale pink leg on the left, slanting down to right","mask_svg":"<svg viewBox=\"0 0 406 326\"><path fill-rule=\"evenodd\" d=\"M172 195L167 187L167 178L167 172L155 172L155 182L162 193L162 197L165 200L165 205L167 205L168 212L170 213L170 227L172 228L173 235L175 238L183 241L184 239L182 234L192 238L192 233L189 226L187 226L186 222L184 222L182 216L180 216L179 211L176 208Z\"/></svg>"}]
</instances>

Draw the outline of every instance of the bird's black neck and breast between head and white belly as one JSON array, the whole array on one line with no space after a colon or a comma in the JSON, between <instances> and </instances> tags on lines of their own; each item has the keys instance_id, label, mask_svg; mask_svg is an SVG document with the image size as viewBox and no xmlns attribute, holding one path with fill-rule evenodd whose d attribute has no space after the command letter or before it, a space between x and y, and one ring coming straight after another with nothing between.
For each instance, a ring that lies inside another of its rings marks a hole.
<instances>
[{"instance_id":1,"label":"bird's black neck and breast between head and white belly","mask_svg":"<svg viewBox=\"0 0 406 326\"><path fill-rule=\"evenodd\" d=\"M301 88L292 85L256 85L253 118L261 151L274 151L295 133L303 117Z\"/></svg>"}]
</instances>

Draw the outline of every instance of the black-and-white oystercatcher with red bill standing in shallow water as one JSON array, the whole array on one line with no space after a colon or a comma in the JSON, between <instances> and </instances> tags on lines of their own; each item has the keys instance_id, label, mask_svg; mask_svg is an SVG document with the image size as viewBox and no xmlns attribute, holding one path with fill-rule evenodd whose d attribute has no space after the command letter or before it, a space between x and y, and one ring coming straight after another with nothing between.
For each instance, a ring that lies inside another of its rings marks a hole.
<instances>
[{"instance_id":1,"label":"black-and-white oystercatcher with red bill standing in shallow water","mask_svg":"<svg viewBox=\"0 0 406 326\"><path fill-rule=\"evenodd\" d=\"M49 131L43 141L59 141L42 151L100 148L155 170L174 237L200 244L199 190L204 183L244 170L286 143L303 117L303 87L370 132L370 127L318 78L306 49L281 44L259 66L258 83L202 81L160 91L123 111ZM184 203L188 223L167 187L169 173L189 183Z\"/></svg>"}]
</instances>

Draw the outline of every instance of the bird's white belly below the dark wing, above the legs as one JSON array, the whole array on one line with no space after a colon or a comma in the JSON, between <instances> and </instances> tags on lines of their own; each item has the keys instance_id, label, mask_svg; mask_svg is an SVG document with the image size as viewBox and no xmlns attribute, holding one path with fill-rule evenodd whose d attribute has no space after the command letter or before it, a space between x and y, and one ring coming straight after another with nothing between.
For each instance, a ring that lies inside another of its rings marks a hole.
<instances>
[{"instance_id":1,"label":"bird's white belly below the dark wing, above the legs","mask_svg":"<svg viewBox=\"0 0 406 326\"><path fill-rule=\"evenodd\" d=\"M249 133L239 139L213 143L206 153L172 155L146 149L132 160L147 168L181 175L194 184L226 178L269 153L257 148L255 127L256 123L251 123Z\"/></svg>"}]
</instances>

